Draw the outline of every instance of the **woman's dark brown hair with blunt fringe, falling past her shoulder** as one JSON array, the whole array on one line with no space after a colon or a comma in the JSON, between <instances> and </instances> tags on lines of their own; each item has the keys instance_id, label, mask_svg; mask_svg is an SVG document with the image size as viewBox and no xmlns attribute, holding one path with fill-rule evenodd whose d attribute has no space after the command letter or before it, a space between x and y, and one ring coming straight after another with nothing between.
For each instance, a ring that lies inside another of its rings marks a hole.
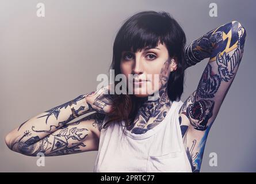
<instances>
[{"instance_id":1,"label":"woman's dark brown hair with blunt fringe, falling past her shoulder","mask_svg":"<svg viewBox=\"0 0 256 184\"><path fill-rule=\"evenodd\" d=\"M179 101L184 90L184 47L186 36L178 22L165 11L142 11L125 20L119 29L113 44L113 59L110 69L114 77L121 74L120 62L123 51L137 52L145 47L156 47L165 44L169 57L177 57L177 70L170 72L167 93L171 101ZM114 83L116 86L118 82ZM105 122L104 128L111 121L123 121L130 125L137 114L142 98L132 94L114 94L113 111Z\"/></svg>"}]
</instances>

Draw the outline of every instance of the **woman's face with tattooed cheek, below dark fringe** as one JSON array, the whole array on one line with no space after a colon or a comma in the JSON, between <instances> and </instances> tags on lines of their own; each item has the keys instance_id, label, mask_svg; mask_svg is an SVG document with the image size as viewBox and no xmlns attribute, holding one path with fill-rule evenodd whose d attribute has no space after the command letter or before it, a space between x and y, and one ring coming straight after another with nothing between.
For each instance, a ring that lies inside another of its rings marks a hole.
<instances>
[{"instance_id":1,"label":"woman's face with tattooed cheek, below dark fringe","mask_svg":"<svg viewBox=\"0 0 256 184\"><path fill-rule=\"evenodd\" d=\"M124 51L121 55L121 73L126 76L127 84L133 86L132 94L136 97L147 97L163 89L163 86L166 87L170 72L176 68L175 58L169 58L168 50L162 44L155 48L144 48L136 53ZM134 79L129 80L129 74L132 74ZM142 82L136 82L140 80Z\"/></svg>"}]
</instances>

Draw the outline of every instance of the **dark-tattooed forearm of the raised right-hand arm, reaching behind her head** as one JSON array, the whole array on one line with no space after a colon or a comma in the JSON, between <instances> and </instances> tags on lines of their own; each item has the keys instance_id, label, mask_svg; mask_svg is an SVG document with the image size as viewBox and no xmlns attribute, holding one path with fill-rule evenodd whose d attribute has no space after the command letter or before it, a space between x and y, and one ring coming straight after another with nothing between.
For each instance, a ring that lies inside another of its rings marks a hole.
<instances>
[{"instance_id":1,"label":"dark-tattooed forearm of the raised right-hand arm, reaching behind her head","mask_svg":"<svg viewBox=\"0 0 256 184\"><path fill-rule=\"evenodd\" d=\"M245 29L242 26L239 26L238 21L232 21L228 24L221 25L216 29L210 30L199 39L192 41L192 43L185 48L184 54L186 63L188 66L193 66L205 58L217 57L219 56L219 52L224 51L227 47L229 47L231 51L236 47L236 44L239 44L239 49L242 51L246 37L244 31ZM239 32L242 33L239 34ZM230 45L232 47L230 47ZM239 49L235 53L238 57ZM226 52L229 51L226 49ZM238 60L239 59L236 61ZM233 63L234 67L235 63Z\"/></svg>"}]
</instances>

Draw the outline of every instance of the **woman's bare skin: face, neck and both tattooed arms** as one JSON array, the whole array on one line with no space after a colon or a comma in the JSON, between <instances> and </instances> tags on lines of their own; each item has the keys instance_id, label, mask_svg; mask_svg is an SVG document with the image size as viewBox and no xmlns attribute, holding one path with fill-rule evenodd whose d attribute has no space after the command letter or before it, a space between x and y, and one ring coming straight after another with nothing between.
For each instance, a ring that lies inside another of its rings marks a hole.
<instances>
[{"instance_id":1,"label":"woman's bare skin: face, neck and both tattooed arms","mask_svg":"<svg viewBox=\"0 0 256 184\"><path fill-rule=\"evenodd\" d=\"M210 58L196 90L179 109L184 147L194 172L200 170L209 129L238 71L245 37L243 26L238 21L232 21L212 29L185 49L187 68L191 63ZM147 97L151 93L136 94L136 97L143 98L143 103L128 130L136 134L145 133L161 123L170 110L172 102L166 87L170 72L177 70L177 59L169 56L164 44L158 44L156 48L144 48L135 53L123 52L120 68L125 76L137 74L145 80L148 79L147 74L160 76L159 81L154 81L153 77L152 81L146 82L151 86L155 82L159 83L159 89L154 89L159 90L158 99L148 101ZM141 85L135 91L143 87ZM98 150L100 125L112 107L108 90L108 87L104 87L80 95L30 118L6 135L7 146L28 156L36 156L39 152L45 156L54 156ZM94 114L69 123L88 112Z\"/></svg>"}]
</instances>

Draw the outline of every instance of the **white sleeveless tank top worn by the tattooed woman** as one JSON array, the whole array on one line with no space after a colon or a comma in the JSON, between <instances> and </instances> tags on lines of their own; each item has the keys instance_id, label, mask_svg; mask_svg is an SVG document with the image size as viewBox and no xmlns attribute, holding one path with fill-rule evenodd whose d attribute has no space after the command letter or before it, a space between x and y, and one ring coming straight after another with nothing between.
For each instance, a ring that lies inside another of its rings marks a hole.
<instances>
[{"instance_id":1,"label":"white sleeveless tank top worn by the tattooed woman","mask_svg":"<svg viewBox=\"0 0 256 184\"><path fill-rule=\"evenodd\" d=\"M94 172L192 172L179 127L182 104L173 101L163 121L140 135L110 122L101 130Z\"/></svg>"}]
</instances>

